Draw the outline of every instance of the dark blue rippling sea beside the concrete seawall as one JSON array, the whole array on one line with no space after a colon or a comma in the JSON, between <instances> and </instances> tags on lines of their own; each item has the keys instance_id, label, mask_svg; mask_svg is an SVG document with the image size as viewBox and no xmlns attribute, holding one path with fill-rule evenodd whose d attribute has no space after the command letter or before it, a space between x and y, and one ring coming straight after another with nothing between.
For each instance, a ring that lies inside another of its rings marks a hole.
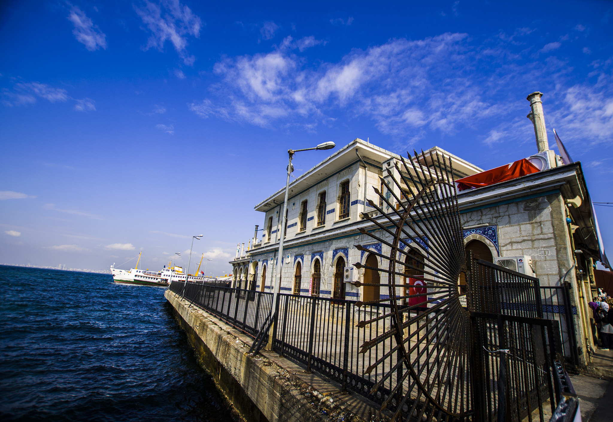
<instances>
[{"instance_id":1,"label":"dark blue rippling sea beside the concrete seawall","mask_svg":"<svg viewBox=\"0 0 613 422\"><path fill-rule=\"evenodd\" d=\"M164 288L0 266L0 420L238 421Z\"/></svg>"}]
</instances>

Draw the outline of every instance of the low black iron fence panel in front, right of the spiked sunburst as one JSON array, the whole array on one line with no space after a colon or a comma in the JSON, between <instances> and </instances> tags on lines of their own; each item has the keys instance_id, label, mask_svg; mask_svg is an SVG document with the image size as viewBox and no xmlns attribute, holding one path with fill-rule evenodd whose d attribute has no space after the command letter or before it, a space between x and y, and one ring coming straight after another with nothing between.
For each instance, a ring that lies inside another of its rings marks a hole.
<instances>
[{"instance_id":1,"label":"low black iron fence panel in front, right of the spiked sunburst","mask_svg":"<svg viewBox=\"0 0 613 422\"><path fill-rule=\"evenodd\" d=\"M549 420L560 391L554 321L472 312L476 419L483 422Z\"/></svg>"}]
</instances>

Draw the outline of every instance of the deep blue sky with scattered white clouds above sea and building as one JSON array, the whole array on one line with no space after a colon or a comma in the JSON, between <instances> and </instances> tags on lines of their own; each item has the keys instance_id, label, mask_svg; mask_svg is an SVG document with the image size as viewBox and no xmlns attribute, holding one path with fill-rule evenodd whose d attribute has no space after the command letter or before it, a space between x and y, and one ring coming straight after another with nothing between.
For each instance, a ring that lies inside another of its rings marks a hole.
<instances>
[{"instance_id":1,"label":"deep blue sky with scattered white clouds above sea and building","mask_svg":"<svg viewBox=\"0 0 613 422\"><path fill-rule=\"evenodd\" d=\"M613 4L500 3L2 2L0 262L142 249L157 269L204 234L194 254L220 274L288 148L370 138L493 168L536 151L533 91L550 145L555 127L613 202Z\"/></svg>"}]
</instances>

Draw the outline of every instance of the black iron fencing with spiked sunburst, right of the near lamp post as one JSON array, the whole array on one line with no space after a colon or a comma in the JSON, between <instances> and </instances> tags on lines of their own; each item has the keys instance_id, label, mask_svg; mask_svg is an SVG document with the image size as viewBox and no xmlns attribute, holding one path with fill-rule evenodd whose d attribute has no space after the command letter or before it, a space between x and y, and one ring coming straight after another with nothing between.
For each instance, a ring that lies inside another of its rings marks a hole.
<instances>
[{"instance_id":1,"label":"black iron fencing with spiked sunburst, right of the near lamp post","mask_svg":"<svg viewBox=\"0 0 613 422\"><path fill-rule=\"evenodd\" d=\"M363 300L280 295L250 351L279 315L274 350L395 420L544 421L560 400L551 370L560 347L555 322L542 319L538 279L467 264L451 158L400 160L384 169L379 204L368 201L375 211L362 214L375 228L360 231L383 246L356 245L367 255L354 264L364 269L354 283ZM356 353L368 358L352 366Z\"/></svg>"}]
</instances>

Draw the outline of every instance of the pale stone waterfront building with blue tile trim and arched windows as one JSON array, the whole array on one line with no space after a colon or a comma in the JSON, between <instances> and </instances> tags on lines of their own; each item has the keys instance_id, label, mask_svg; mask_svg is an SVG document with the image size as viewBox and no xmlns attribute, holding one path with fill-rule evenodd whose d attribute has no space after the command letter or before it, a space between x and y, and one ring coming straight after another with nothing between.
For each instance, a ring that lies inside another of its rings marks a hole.
<instances>
[{"instance_id":1,"label":"pale stone waterfront building with blue tile trim and arched windows","mask_svg":"<svg viewBox=\"0 0 613 422\"><path fill-rule=\"evenodd\" d=\"M569 290L572 313L577 339L582 344L580 359L585 363L590 350L595 348L589 333L591 310L587 306L596 296L593 268L596 260L607 266L608 262L581 163L563 164L562 158L549 150L546 141L543 144L541 140L539 144L537 132L539 151L530 160L541 163L539 171L458 193L463 238L466 251L489 262L498 257L527 257L526 273L538 277L541 286L560 285L566 271L576 265L566 281L574 287ZM456 180L484 171L436 146L425 153L426 162L422 165L428 167L437 165L437 156L451 159ZM430 153L435 162L430 161ZM357 288L343 282L343 273L349 267L352 281L378 282L378 271L352 265L359 262L379 268L387 266L381 258L359 251L355 245L389 254L386 244L373 243L359 229L379 230L376 235L391 240L361 214L369 213L373 217L379 214L368 200L392 212L389 206L383 206L373 187L386 192L386 198L395 205L394 196L382 186L380 178L384 184L390 175L400 180L394 167L396 162L400 162L397 154L355 139L289 185L286 227L281 227L280 218L284 187L257 204L255 209L264 214L263 235L261 239L256 235L249 241L248 251L243 253L237 249L237 257L230 262L232 286L272 292L279 259L276 254L283 235L281 293L363 301L383 298L389 293L386 288L380 291L375 287ZM402 163L400 168L403 169ZM394 183L389 187L397 189ZM402 192L394 194L403 199ZM378 221L384 223L386 217L381 216ZM411 246L427 259L427 244Z\"/></svg>"}]
</instances>

